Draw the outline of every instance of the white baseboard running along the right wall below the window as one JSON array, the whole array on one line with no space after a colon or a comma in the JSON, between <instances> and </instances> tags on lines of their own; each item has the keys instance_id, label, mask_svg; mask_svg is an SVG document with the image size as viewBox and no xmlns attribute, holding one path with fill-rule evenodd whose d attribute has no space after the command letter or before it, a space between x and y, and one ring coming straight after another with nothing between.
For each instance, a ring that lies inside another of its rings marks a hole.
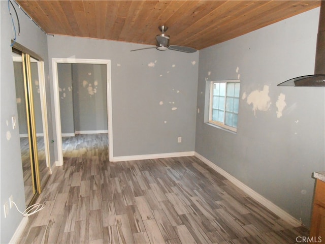
<instances>
[{"instance_id":1,"label":"white baseboard running along the right wall below the window","mask_svg":"<svg viewBox=\"0 0 325 244\"><path fill-rule=\"evenodd\" d=\"M270 211L272 211L274 214L279 216L282 220L286 221L287 223L293 225L294 227L299 227L302 225L302 222L297 220L295 217L289 215L286 211L284 211L282 208L275 205L273 202L269 201L262 195L255 192L253 189L246 186L243 182L236 179L234 176L229 174L228 172L224 171L214 163L212 163L210 160L204 158L202 155L198 153L194 153L194 156L203 161L206 165L208 165L210 168L227 178L229 181L231 181L236 187L241 189L243 192L245 192L248 196L253 198L255 201L261 203L263 206L268 208Z\"/></svg>"}]
</instances>

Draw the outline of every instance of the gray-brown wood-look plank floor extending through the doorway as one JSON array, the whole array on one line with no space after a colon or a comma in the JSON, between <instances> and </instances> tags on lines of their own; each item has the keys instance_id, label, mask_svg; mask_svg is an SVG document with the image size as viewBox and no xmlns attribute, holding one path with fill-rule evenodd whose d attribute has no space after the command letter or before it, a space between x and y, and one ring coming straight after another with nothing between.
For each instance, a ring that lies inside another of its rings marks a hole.
<instances>
[{"instance_id":1,"label":"gray-brown wood-look plank floor extending through the doorway","mask_svg":"<svg viewBox=\"0 0 325 244\"><path fill-rule=\"evenodd\" d=\"M296 243L308 236L196 157L108 162L103 135L68 138L20 243Z\"/></svg>"}]
</instances>

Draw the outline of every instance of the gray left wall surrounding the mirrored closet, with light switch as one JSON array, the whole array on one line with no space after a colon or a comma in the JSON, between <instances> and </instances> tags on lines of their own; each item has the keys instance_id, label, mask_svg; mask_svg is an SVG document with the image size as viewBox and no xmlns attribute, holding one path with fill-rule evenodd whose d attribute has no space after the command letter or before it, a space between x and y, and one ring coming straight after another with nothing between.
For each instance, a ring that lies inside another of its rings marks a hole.
<instances>
[{"instance_id":1,"label":"gray left wall surrounding the mirrored closet, with light switch","mask_svg":"<svg viewBox=\"0 0 325 244\"><path fill-rule=\"evenodd\" d=\"M15 4L14 4L15 5ZM17 42L38 53L46 60L45 77L46 84L49 84L48 76L48 55L47 55L47 39L40 29L30 21L21 10L16 7L20 19L20 36L17 36ZM13 12L13 10L12 10ZM14 18L15 20L15 18ZM16 21L16 20L15 20ZM0 1L0 205L1 205L1 231L0 242L8 243L18 227L22 216L14 208L10 209L8 217L4 218L3 205L9 201L12 195L14 201L20 209L25 207L24 185L20 158L20 142L18 128L12 129L11 117L18 117L15 91L14 66L12 62L12 49L10 47L12 34L11 19L8 11L8 2ZM16 27L17 27L16 22ZM48 118L51 117L50 110L50 92L49 86L46 88ZM49 123L50 140L52 135L52 124ZM50 160L54 162L53 144L50 143Z\"/></svg>"}]
</instances>

